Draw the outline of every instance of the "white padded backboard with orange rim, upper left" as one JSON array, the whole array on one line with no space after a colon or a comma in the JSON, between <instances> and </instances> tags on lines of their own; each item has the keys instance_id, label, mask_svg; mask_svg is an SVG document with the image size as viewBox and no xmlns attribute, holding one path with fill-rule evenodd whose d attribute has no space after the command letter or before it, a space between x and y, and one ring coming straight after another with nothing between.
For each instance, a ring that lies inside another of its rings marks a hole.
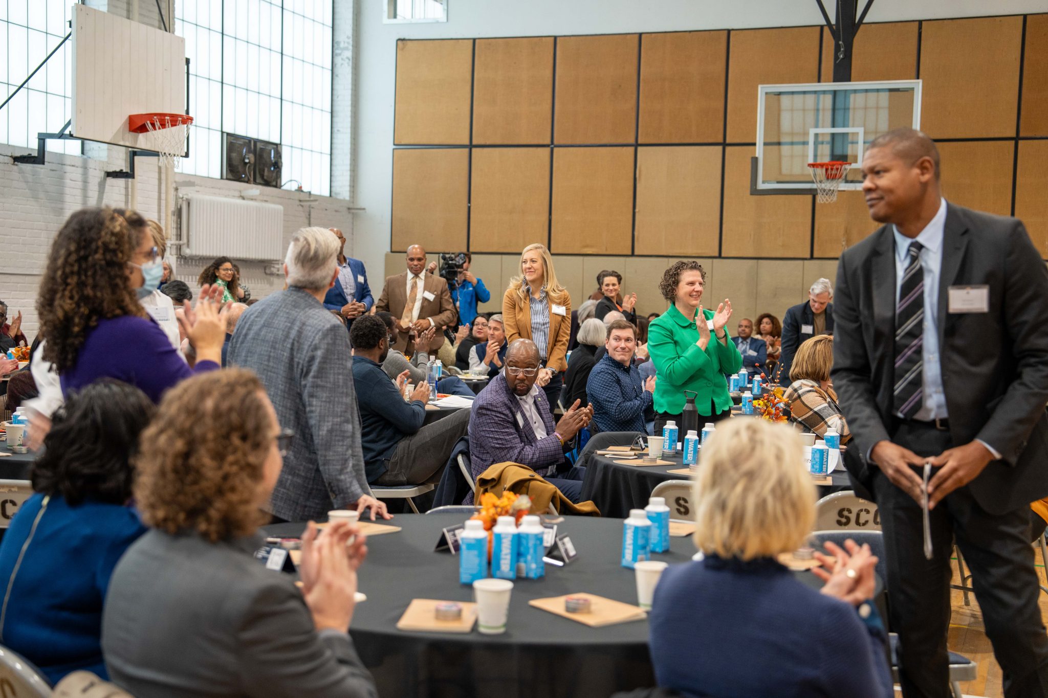
<instances>
[{"instance_id":1,"label":"white padded backboard with orange rim, upper left","mask_svg":"<svg viewBox=\"0 0 1048 698\"><path fill-rule=\"evenodd\" d=\"M185 40L78 4L72 17L72 123L77 138L158 150L128 131L128 116L185 113Z\"/></svg>"}]
</instances>

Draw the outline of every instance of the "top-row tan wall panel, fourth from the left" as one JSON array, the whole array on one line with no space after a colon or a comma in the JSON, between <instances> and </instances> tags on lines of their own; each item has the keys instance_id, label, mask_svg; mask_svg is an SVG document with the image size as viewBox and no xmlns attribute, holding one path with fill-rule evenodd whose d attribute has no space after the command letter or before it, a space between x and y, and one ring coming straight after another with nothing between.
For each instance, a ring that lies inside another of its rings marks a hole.
<instances>
[{"instance_id":1,"label":"top-row tan wall panel, fourth from the left","mask_svg":"<svg viewBox=\"0 0 1048 698\"><path fill-rule=\"evenodd\" d=\"M641 143L708 143L724 135L727 31L640 39Z\"/></svg>"}]
</instances>

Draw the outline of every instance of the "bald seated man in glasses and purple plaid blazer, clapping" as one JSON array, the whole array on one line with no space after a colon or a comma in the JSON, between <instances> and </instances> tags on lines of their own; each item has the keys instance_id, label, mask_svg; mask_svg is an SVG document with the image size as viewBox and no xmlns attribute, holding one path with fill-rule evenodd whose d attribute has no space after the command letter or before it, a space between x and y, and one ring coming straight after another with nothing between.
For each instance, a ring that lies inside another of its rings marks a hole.
<instances>
[{"instance_id":1,"label":"bald seated man in glasses and purple plaid blazer, clapping","mask_svg":"<svg viewBox=\"0 0 1048 698\"><path fill-rule=\"evenodd\" d=\"M564 444L589 424L592 407L571 406L553 425L546 395L534 384L539 350L530 339L518 339L506 350L505 367L480 391L470 416L470 464L474 480L496 463L517 463L556 486L565 497L582 500L583 468L549 477L564 463ZM530 375L528 375L530 374ZM473 503L473 493L464 503Z\"/></svg>"}]
</instances>

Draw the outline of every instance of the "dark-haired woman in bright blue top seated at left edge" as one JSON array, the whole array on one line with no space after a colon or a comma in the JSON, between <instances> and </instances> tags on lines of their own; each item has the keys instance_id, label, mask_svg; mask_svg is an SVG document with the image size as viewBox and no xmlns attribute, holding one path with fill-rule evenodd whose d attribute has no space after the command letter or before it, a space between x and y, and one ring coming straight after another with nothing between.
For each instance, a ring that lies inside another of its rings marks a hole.
<instances>
[{"instance_id":1,"label":"dark-haired woman in bright blue top seated at left edge","mask_svg":"<svg viewBox=\"0 0 1048 698\"><path fill-rule=\"evenodd\" d=\"M0 636L52 683L78 670L108 678L102 607L116 561L146 533L130 504L131 458L155 411L119 381L71 395L32 466L35 494L0 545Z\"/></svg>"}]
</instances>

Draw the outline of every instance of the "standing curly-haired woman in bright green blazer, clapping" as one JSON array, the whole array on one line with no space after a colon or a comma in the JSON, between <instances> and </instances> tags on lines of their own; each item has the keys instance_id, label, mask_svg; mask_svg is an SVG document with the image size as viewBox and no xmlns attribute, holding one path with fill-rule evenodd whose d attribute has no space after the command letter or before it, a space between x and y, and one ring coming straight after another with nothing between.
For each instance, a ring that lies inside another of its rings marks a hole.
<instances>
[{"instance_id":1,"label":"standing curly-haired woman in bright green blazer, clapping","mask_svg":"<svg viewBox=\"0 0 1048 698\"><path fill-rule=\"evenodd\" d=\"M662 433L670 420L680 426L684 390L698 393L695 407L709 422L726 419L732 412L724 374L739 373L742 355L724 330L732 317L732 301L725 298L716 313L702 309L705 277L698 262L681 261L665 270L659 284L662 296L672 305L648 329L648 352L657 376L656 434ZM709 334L707 320L713 320L716 338Z\"/></svg>"}]
</instances>

